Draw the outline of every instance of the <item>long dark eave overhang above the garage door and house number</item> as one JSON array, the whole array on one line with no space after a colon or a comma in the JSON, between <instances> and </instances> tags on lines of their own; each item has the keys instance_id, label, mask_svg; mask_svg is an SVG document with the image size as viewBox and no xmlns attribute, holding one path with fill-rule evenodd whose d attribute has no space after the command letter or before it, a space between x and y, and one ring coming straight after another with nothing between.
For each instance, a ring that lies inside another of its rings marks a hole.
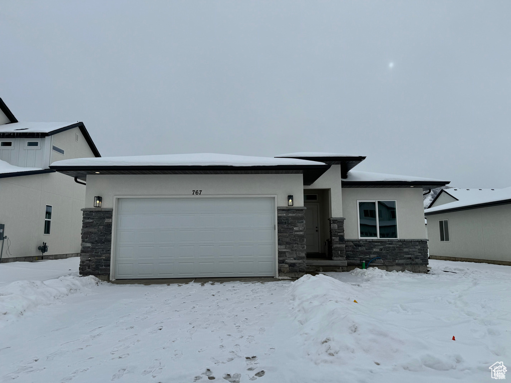
<instances>
[{"instance_id":1,"label":"long dark eave overhang above the garage door and house number","mask_svg":"<svg viewBox=\"0 0 511 383\"><path fill-rule=\"evenodd\" d=\"M275 166L50 166L50 169L86 181L87 175L111 174L303 174L304 185L311 185L330 168L330 165ZM98 174L99 173L99 174Z\"/></svg>"}]
</instances>

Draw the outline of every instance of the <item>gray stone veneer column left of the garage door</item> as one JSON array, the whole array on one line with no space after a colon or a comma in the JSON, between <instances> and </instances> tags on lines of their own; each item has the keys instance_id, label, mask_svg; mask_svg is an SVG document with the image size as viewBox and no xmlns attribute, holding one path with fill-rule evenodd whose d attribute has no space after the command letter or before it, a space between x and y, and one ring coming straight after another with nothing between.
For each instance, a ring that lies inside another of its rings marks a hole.
<instances>
[{"instance_id":1,"label":"gray stone veneer column left of the garage door","mask_svg":"<svg viewBox=\"0 0 511 383\"><path fill-rule=\"evenodd\" d=\"M113 209L82 209L82 249L80 275L110 279Z\"/></svg>"}]
</instances>

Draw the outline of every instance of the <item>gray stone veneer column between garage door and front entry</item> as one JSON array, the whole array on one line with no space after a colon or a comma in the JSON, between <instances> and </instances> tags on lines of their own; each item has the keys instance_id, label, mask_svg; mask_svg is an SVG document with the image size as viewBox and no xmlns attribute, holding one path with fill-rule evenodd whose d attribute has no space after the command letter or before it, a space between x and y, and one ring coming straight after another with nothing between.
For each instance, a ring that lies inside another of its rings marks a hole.
<instances>
[{"instance_id":1,"label":"gray stone veneer column between garage door and front entry","mask_svg":"<svg viewBox=\"0 0 511 383\"><path fill-rule=\"evenodd\" d=\"M307 271L305 207L277 207L278 275L301 277Z\"/></svg>"}]
</instances>

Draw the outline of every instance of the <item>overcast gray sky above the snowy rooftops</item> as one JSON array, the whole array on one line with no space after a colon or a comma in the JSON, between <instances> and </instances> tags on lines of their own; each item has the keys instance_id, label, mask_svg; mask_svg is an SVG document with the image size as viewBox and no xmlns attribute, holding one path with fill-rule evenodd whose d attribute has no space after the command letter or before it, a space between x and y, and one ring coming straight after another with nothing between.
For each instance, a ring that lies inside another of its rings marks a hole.
<instances>
[{"instance_id":1,"label":"overcast gray sky above the snowy rooftops","mask_svg":"<svg viewBox=\"0 0 511 383\"><path fill-rule=\"evenodd\" d=\"M511 186L511 2L0 2L0 97L103 156L297 151Z\"/></svg>"}]
</instances>

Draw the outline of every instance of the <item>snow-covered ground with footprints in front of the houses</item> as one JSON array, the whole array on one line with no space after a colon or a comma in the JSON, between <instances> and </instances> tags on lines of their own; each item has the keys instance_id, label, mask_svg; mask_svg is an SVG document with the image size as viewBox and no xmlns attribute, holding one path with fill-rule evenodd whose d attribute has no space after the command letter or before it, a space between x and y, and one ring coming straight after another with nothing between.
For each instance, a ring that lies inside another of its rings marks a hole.
<instances>
[{"instance_id":1,"label":"snow-covered ground with footprints in front of the houses","mask_svg":"<svg viewBox=\"0 0 511 383\"><path fill-rule=\"evenodd\" d=\"M1 264L0 382L493 381L511 366L511 267L430 264L169 285L79 278L77 258Z\"/></svg>"}]
</instances>

